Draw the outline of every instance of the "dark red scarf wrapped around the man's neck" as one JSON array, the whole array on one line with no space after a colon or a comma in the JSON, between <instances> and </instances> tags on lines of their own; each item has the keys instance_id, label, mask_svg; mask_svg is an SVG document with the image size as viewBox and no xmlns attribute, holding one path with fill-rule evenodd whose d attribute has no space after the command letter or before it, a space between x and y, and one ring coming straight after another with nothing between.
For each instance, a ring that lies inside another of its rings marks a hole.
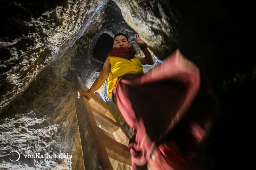
<instances>
[{"instance_id":1,"label":"dark red scarf wrapped around the man's neck","mask_svg":"<svg viewBox=\"0 0 256 170\"><path fill-rule=\"evenodd\" d=\"M129 48L122 47L118 49L112 49L111 51L109 51L106 59L108 58L108 56L115 56L130 60L134 58L135 53L136 51L133 46L130 46Z\"/></svg>"}]
</instances>

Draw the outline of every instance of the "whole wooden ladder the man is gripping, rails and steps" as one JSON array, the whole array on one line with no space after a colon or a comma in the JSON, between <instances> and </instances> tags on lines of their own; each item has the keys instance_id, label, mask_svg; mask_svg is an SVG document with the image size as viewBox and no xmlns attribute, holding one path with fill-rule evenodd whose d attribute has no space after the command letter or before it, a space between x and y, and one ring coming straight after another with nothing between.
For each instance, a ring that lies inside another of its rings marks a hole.
<instances>
[{"instance_id":1,"label":"whole wooden ladder the man is gripping, rails and steps","mask_svg":"<svg viewBox=\"0 0 256 170\"><path fill-rule=\"evenodd\" d=\"M78 90L88 90L80 77L73 80L73 89L85 170L113 170L109 158L131 166L130 137L106 103L96 94L89 102L78 99Z\"/></svg>"}]
</instances>

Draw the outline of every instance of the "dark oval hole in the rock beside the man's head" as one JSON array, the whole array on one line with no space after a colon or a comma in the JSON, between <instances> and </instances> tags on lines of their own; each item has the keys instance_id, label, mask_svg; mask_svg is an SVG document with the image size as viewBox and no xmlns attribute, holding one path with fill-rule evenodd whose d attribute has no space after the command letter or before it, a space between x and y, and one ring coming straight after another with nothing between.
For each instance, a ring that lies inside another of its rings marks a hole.
<instances>
[{"instance_id":1,"label":"dark oval hole in the rock beside the man's head","mask_svg":"<svg viewBox=\"0 0 256 170\"><path fill-rule=\"evenodd\" d=\"M103 33L98 38L95 47L93 48L93 58L101 62L105 62L109 51L113 49L113 38L110 35Z\"/></svg>"}]
</instances>

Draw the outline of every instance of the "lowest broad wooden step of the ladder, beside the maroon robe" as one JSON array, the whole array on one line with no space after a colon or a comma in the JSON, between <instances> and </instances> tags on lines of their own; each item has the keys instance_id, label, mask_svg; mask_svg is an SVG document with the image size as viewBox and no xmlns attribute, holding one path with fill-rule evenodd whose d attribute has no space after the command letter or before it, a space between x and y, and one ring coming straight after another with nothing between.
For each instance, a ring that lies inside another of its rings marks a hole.
<instances>
[{"instance_id":1,"label":"lowest broad wooden step of the ladder, beside the maroon robe","mask_svg":"<svg viewBox=\"0 0 256 170\"><path fill-rule=\"evenodd\" d=\"M132 166L131 154L128 146L111 139L102 132L100 132L100 136L102 137L102 141L110 158Z\"/></svg>"}]
</instances>

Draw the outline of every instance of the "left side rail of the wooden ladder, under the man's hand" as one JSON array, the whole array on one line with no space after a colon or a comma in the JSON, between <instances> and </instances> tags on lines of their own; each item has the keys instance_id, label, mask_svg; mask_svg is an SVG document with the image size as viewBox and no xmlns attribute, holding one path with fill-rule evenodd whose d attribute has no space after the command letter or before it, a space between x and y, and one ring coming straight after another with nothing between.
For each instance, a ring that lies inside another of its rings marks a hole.
<instances>
[{"instance_id":1,"label":"left side rail of the wooden ladder, under the man's hand","mask_svg":"<svg viewBox=\"0 0 256 170\"><path fill-rule=\"evenodd\" d=\"M79 77L73 80L76 116L85 169L113 170L88 100L85 97L77 99L77 91L80 89L85 90L84 87L85 85L81 82Z\"/></svg>"}]
</instances>

